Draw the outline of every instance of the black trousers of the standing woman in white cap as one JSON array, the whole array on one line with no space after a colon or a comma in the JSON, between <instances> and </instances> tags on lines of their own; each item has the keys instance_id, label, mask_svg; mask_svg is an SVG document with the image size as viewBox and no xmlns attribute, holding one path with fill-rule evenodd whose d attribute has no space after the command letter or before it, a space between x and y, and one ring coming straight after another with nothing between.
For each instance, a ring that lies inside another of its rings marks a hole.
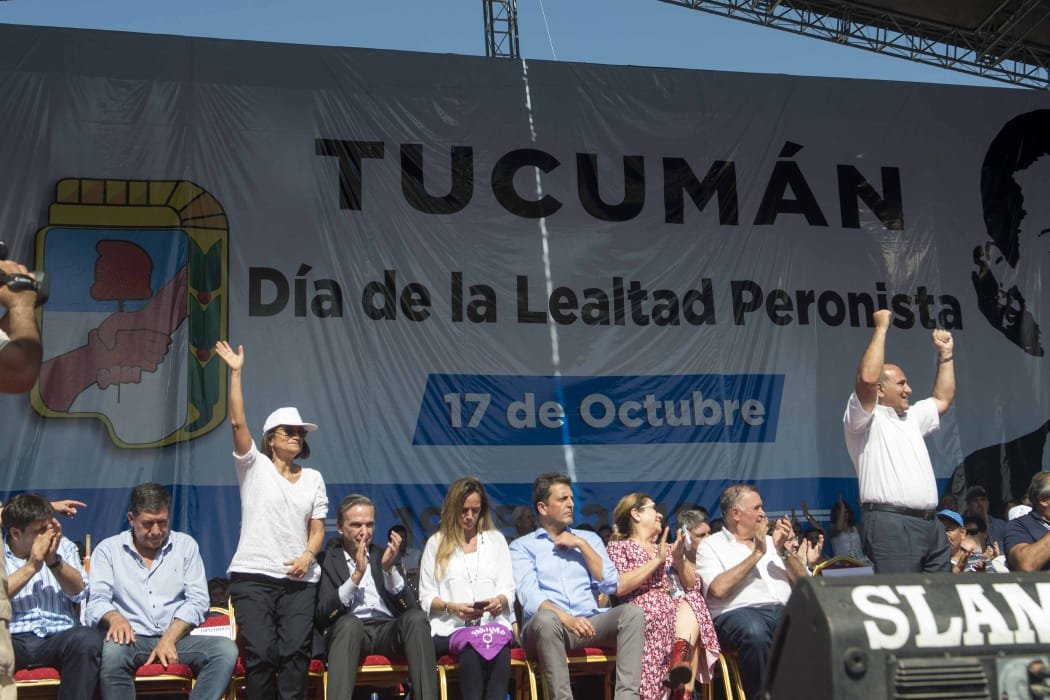
<instances>
[{"instance_id":1,"label":"black trousers of the standing woman in white cap","mask_svg":"<svg viewBox=\"0 0 1050 700\"><path fill-rule=\"evenodd\" d=\"M248 697L306 698L317 585L234 572L230 597L239 628L237 641L243 644Z\"/></svg>"}]
</instances>

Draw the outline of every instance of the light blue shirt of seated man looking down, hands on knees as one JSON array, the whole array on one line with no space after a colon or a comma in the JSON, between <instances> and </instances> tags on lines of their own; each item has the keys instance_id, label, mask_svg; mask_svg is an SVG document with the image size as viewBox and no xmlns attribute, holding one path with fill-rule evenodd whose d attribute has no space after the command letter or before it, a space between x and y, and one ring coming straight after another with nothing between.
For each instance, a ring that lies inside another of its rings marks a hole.
<instances>
[{"instance_id":1,"label":"light blue shirt of seated man looking down, hands on knees","mask_svg":"<svg viewBox=\"0 0 1050 700\"><path fill-rule=\"evenodd\" d=\"M208 584L196 540L171 531L146 568L131 531L107 537L91 552L91 595L85 621L116 610L136 635L160 636L175 617L196 627L208 612Z\"/></svg>"}]
</instances>

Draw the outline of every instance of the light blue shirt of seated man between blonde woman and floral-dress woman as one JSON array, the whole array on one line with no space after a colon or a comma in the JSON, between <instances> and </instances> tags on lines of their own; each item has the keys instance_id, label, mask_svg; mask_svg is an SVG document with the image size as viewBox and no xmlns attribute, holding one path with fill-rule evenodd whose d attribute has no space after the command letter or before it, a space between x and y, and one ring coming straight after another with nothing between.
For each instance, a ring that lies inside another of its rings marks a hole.
<instances>
[{"instance_id":1,"label":"light blue shirt of seated man between blonde woman and floral-dress woman","mask_svg":"<svg viewBox=\"0 0 1050 700\"><path fill-rule=\"evenodd\" d=\"M610 595L616 592L620 574L609 560L602 538L587 530L569 528L569 531L586 539L602 557L602 580L591 578L580 550L554 547L554 540L543 528L522 535L510 543L510 563L526 624L544 600L574 617L590 617L602 612L595 588Z\"/></svg>"}]
</instances>

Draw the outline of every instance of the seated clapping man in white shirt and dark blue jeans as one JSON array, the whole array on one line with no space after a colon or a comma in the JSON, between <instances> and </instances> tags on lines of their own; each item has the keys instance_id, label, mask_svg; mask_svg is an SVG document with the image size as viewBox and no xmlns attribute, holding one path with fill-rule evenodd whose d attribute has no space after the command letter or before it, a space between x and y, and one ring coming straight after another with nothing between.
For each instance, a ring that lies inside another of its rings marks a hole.
<instances>
[{"instance_id":1,"label":"seated clapping man in white shirt and dark blue jeans","mask_svg":"<svg viewBox=\"0 0 1050 700\"><path fill-rule=\"evenodd\" d=\"M807 576L804 556L788 547L795 536L782 517L768 534L762 496L751 484L734 484L721 495L726 526L704 538L696 573L723 648L735 648L743 690L759 697L773 632L791 596L791 586Z\"/></svg>"}]
</instances>

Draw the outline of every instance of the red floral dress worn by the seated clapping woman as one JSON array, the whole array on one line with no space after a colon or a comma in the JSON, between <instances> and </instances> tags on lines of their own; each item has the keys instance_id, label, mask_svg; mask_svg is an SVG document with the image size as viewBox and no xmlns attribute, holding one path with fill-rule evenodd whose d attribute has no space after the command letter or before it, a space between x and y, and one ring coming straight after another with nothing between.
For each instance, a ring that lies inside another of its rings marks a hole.
<instances>
[{"instance_id":1,"label":"red floral dress worn by the seated clapping woman","mask_svg":"<svg viewBox=\"0 0 1050 700\"><path fill-rule=\"evenodd\" d=\"M609 559L621 574L633 571L652 559L636 542L617 539L606 548ZM642 700L659 700L667 693L664 675L674 643L674 618L678 601L671 597L671 580L664 567L643 584L621 596L622 602L633 602L646 615L646 643L642 663ZM705 608L707 610L707 608ZM711 616L708 615L708 621ZM717 644L717 641L715 642Z\"/></svg>"}]
</instances>

